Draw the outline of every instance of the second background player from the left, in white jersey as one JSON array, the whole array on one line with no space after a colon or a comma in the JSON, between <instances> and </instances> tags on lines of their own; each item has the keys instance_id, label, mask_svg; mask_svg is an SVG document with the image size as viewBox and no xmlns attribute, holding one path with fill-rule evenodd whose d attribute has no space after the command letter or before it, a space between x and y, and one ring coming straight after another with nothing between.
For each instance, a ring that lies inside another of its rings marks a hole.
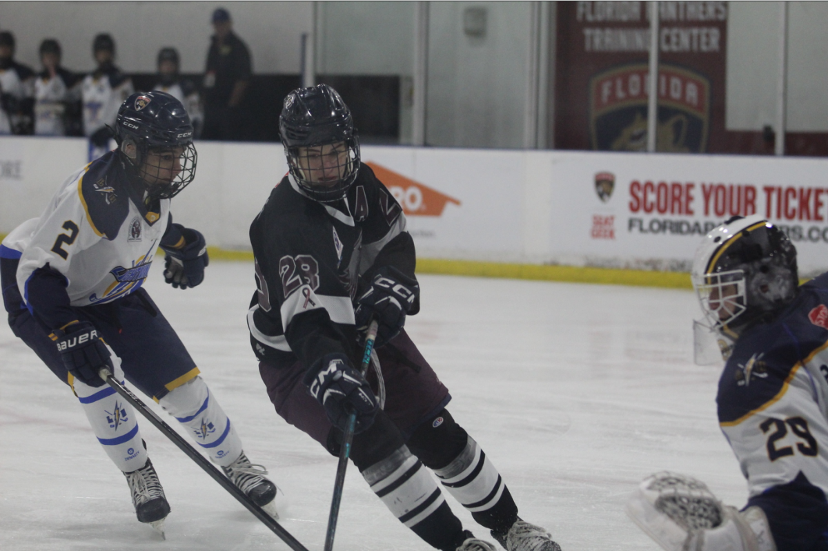
<instances>
[{"instance_id":1,"label":"second background player from the left, in white jersey","mask_svg":"<svg viewBox=\"0 0 828 551\"><path fill-rule=\"evenodd\" d=\"M80 102L78 76L60 66L60 44L53 38L41 42L42 72L35 79L35 133L65 136Z\"/></svg>"}]
</instances>

